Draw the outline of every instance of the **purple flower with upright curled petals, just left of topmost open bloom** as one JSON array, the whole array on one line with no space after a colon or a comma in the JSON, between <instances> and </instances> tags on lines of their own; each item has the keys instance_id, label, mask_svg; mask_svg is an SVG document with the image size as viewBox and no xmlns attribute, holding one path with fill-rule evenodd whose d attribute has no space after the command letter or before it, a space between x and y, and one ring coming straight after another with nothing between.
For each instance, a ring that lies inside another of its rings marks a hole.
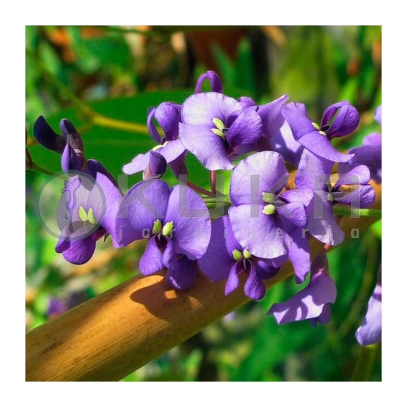
<instances>
[{"instance_id":1,"label":"purple flower with upright curled petals, just left of topmost open bloom","mask_svg":"<svg viewBox=\"0 0 407 407\"><path fill-rule=\"evenodd\" d=\"M160 134L154 124L154 119L164 132ZM160 178L167 168L167 163L171 170L178 177L186 174L184 163L185 147L178 138L178 125L181 121L180 105L172 102L160 103L157 107L149 110L147 127L151 137L157 145L146 154L138 154L133 160L123 166L125 174L135 174L143 171L143 179Z\"/></svg>"}]
</instances>

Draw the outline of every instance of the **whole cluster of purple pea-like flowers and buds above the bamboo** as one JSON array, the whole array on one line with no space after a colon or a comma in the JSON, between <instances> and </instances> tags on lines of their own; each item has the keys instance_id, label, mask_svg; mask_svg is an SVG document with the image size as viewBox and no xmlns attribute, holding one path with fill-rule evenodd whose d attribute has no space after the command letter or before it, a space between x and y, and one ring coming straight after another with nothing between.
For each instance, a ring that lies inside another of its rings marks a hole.
<instances>
[{"instance_id":1,"label":"whole cluster of purple pea-like flowers and buds above the bamboo","mask_svg":"<svg viewBox=\"0 0 407 407\"><path fill-rule=\"evenodd\" d=\"M209 80L211 92L201 92L204 80ZM110 234L114 247L145 239L146 251L139 262L143 275L165 269L169 284L185 289L193 284L199 267L210 280L225 280L225 295L242 284L245 294L255 300L266 293L264 281L288 260L297 283L308 275L309 282L291 299L274 304L269 313L278 324L300 319L312 325L327 323L336 286L325 251L311 262L309 240L313 237L326 248L340 244L344 234L334 207L372 205L370 180L381 182L381 135L369 134L362 146L344 154L332 140L358 127L354 106L334 103L318 122L308 117L304 104L286 103L287 99L283 95L264 105L249 97L235 99L222 93L215 72L206 72L182 104L163 102L149 109L147 125L156 145L123 166L124 173L142 171L143 177L124 196L100 163L85 159L81 137L69 121L62 120L63 135L58 135L40 117L34 127L37 140L62 154L64 171L94 179L105 204L102 216L97 194L91 187L84 188L88 193L77 193L80 185L73 175L61 198L72 214L62 229L71 231L63 233L56 251L81 264L92 256L102 236ZM375 119L381 123L381 107ZM193 154L210 171L211 180L217 170L231 171L227 213L212 222L207 202L216 194L216 185L205 192L184 182L186 154ZM167 164L180 179L172 188L159 180ZM335 164L339 175L332 175ZM286 165L297 169L294 182ZM95 225L91 234L83 234ZM374 317L373 306L369 302L367 322Z\"/></svg>"}]
</instances>

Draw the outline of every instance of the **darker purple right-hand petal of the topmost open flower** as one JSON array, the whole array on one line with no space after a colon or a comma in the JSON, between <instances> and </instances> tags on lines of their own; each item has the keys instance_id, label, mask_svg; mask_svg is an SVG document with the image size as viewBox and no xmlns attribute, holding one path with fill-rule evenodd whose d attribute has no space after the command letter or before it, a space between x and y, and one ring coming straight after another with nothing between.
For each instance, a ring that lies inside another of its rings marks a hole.
<instances>
[{"instance_id":1,"label":"darker purple right-hand petal of the topmost open flower","mask_svg":"<svg viewBox=\"0 0 407 407\"><path fill-rule=\"evenodd\" d=\"M232 150L242 144L254 143L261 135L261 119L257 112L247 108L240 110L226 133Z\"/></svg>"}]
</instances>

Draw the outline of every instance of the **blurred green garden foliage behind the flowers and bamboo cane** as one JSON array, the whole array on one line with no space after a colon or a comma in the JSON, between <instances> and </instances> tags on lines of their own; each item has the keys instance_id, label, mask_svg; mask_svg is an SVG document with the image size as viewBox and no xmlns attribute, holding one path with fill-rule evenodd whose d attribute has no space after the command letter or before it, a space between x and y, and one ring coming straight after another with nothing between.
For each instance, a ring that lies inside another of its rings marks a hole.
<instances>
[{"instance_id":1,"label":"blurred green garden foliage behind the flowers and bamboo cane","mask_svg":"<svg viewBox=\"0 0 407 407\"><path fill-rule=\"evenodd\" d=\"M220 74L227 95L260 104L288 94L316 121L329 104L349 100L361 123L337 141L347 149L381 131L373 121L381 104L381 33L381 26L26 26L27 149L37 166L60 171L60 156L36 143L33 124L42 114L57 131L67 118L86 157L118 176L154 146L147 109L182 103L208 69ZM191 181L209 187L208 171L190 154L187 166ZM131 176L129 186L140 179ZM176 182L169 172L164 179ZM142 242L114 250L101 240L89 263L67 263L36 215L47 180L26 171L26 330L134 276L143 252ZM330 251L329 261L338 297L326 326L278 326L266 315L302 288L289 279L124 381L380 381L381 346L363 348L355 331L381 263L381 221Z\"/></svg>"}]
</instances>

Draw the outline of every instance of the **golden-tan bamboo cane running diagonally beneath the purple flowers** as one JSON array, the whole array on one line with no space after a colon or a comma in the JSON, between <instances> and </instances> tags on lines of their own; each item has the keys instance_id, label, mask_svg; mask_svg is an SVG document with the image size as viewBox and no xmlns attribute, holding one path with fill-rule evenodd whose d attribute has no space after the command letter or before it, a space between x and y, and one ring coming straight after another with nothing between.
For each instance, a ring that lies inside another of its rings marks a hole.
<instances>
[{"instance_id":1,"label":"golden-tan bamboo cane running diagonally beneath the purple flowers","mask_svg":"<svg viewBox=\"0 0 407 407\"><path fill-rule=\"evenodd\" d=\"M373 184L381 207L381 186ZM345 239L375 219L342 218ZM323 245L311 240L311 255ZM291 275L286 262L268 287ZM224 281L199 273L192 288L172 289L163 275L136 276L28 332L27 381L117 381L247 302L242 284L227 297Z\"/></svg>"}]
</instances>

